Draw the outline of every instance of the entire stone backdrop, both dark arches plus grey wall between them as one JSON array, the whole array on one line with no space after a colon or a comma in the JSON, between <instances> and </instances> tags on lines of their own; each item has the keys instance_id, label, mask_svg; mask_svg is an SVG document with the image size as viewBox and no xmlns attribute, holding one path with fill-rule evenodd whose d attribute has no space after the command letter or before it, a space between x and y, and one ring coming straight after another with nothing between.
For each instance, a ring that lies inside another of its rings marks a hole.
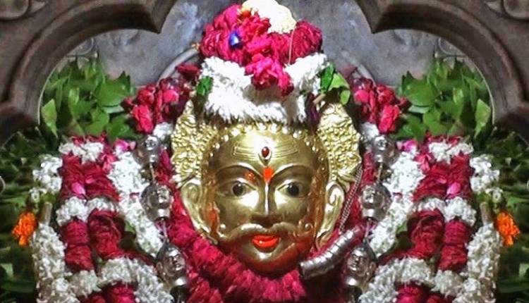
<instances>
[{"instance_id":1,"label":"entire stone backdrop, both dark arches plus grey wall between them","mask_svg":"<svg viewBox=\"0 0 529 303\"><path fill-rule=\"evenodd\" d=\"M127 31L93 40L111 70L126 67L139 84L150 82L190 42L197 41L204 23L229 2L1 1L0 144L16 130L38 123L44 82L75 46L120 28L159 32L171 12L161 36ZM365 66L376 80L389 84L398 82L408 69L420 73L439 46L429 35L399 29L439 35L468 55L485 75L494 99L495 122L529 139L528 0L356 0L358 6L352 0L283 2L298 18L322 25L327 53L339 66ZM366 25L382 33L372 36ZM92 42L86 43L90 49Z\"/></svg>"}]
</instances>

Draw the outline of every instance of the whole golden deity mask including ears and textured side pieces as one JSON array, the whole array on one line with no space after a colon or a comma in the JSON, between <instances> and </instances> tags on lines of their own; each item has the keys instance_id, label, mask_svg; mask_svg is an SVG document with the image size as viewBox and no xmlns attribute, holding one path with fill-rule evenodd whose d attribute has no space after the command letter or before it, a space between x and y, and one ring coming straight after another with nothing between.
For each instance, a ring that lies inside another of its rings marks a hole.
<instances>
[{"instance_id":1,"label":"whole golden deity mask including ears and textured side pieces","mask_svg":"<svg viewBox=\"0 0 529 303\"><path fill-rule=\"evenodd\" d=\"M332 235L360 163L340 104L320 126L215 123L189 102L173 135L173 163L195 228L259 273L296 268Z\"/></svg>"}]
</instances>

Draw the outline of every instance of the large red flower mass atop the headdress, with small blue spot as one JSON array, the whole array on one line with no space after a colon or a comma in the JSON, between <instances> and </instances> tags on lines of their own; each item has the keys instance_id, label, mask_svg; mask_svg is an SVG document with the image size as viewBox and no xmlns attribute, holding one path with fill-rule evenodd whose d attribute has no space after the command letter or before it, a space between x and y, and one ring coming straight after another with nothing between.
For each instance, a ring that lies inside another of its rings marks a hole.
<instances>
[{"instance_id":1,"label":"large red flower mass atop the headdress, with small blue spot","mask_svg":"<svg viewBox=\"0 0 529 303\"><path fill-rule=\"evenodd\" d=\"M247 75L253 75L257 89L276 85L287 95L293 85L284 66L320 51L322 32L305 21L288 34L269 33L270 26L267 18L235 4L206 26L200 51L205 57L216 56L243 66Z\"/></svg>"}]
</instances>

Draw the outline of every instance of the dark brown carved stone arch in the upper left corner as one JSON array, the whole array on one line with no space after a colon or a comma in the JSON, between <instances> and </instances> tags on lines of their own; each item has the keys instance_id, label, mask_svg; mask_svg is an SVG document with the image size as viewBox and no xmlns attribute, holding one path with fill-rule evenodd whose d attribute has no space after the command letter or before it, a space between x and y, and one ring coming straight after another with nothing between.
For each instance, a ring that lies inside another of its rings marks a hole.
<instances>
[{"instance_id":1,"label":"dark brown carved stone arch in the upper left corner","mask_svg":"<svg viewBox=\"0 0 529 303\"><path fill-rule=\"evenodd\" d=\"M12 39L0 37L0 49L17 51L6 54L16 64L6 64L9 75L0 75L0 144L20 128L39 123L39 99L42 87L61 58L92 36L110 30L137 28L159 32L176 0L51 0L31 16L1 20L2 27L32 33L28 47L20 48ZM39 23L49 22L47 25ZM39 27L37 30L28 30ZM16 35L9 34L8 35ZM3 38L3 39L2 39ZM11 49L10 49L11 48ZM0 57L2 51L0 50ZM12 62L10 62L12 63Z\"/></svg>"}]
</instances>

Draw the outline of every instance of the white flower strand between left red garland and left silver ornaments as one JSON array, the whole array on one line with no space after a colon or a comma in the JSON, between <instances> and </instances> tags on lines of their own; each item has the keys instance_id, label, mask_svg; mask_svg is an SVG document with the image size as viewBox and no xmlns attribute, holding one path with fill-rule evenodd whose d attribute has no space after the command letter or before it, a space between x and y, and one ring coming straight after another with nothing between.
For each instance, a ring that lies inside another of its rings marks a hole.
<instances>
[{"instance_id":1,"label":"white flower strand between left red garland and left silver ornaments","mask_svg":"<svg viewBox=\"0 0 529 303\"><path fill-rule=\"evenodd\" d=\"M119 155L118 161L112 163L109 179L120 194L118 211L123 218L135 228L136 239L142 249L156 256L162 248L162 236L140 203L140 195L148 183L141 175L142 166L132 152Z\"/></svg>"}]
</instances>

